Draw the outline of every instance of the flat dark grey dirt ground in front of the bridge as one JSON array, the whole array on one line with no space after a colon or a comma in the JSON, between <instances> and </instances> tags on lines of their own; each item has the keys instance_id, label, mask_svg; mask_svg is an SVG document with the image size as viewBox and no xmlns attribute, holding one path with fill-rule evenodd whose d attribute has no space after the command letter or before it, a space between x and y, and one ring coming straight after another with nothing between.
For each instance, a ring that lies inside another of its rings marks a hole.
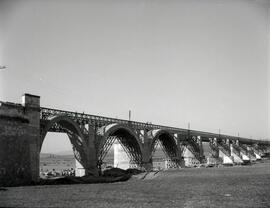
<instances>
[{"instance_id":1,"label":"flat dark grey dirt ground in front of the bridge","mask_svg":"<svg viewBox=\"0 0 270 208\"><path fill-rule=\"evenodd\" d=\"M0 191L0 207L270 207L270 162L151 173L111 184Z\"/></svg>"}]
</instances>

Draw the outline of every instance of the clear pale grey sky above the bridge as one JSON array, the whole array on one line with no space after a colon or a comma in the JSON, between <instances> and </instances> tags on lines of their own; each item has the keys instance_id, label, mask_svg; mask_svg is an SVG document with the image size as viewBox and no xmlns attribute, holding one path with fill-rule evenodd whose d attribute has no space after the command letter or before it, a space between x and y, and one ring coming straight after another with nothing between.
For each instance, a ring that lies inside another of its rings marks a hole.
<instances>
[{"instance_id":1,"label":"clear pale grey sky above the bridge","mask_svg":"<svg viewBox=\"0 0 270 208\"><path fill-rule=\"evenodd\" d=\"M266 2L0 0L0 100L269 138Z\"/></svg>"}]
</instances>

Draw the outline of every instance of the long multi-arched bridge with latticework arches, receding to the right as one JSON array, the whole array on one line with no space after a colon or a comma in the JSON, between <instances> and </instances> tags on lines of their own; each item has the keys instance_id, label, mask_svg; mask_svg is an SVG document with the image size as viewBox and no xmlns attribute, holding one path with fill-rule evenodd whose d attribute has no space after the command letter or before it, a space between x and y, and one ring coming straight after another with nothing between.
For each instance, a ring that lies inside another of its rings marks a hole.
<instances>
[{"instance_id":1,"label":"long multi-arched bridge with latticework arches, receding to the right","mask_svg":"<svg viewBox=\"0 0 270 208\"><path fill-rule=\"evenodd\" d=\"M39 96L24 94L22 104L1 102L0 185L39 180L39 154L48 132L68 135L75 158L88 175L98 175L115 140L134 164L146 170L152 169L158 142L174 167L184 166L184 149L203 162L203 142L209 143L213 158L243 161L270 152L269 141L43 108Z\"/></svg>"}]
</instances>

